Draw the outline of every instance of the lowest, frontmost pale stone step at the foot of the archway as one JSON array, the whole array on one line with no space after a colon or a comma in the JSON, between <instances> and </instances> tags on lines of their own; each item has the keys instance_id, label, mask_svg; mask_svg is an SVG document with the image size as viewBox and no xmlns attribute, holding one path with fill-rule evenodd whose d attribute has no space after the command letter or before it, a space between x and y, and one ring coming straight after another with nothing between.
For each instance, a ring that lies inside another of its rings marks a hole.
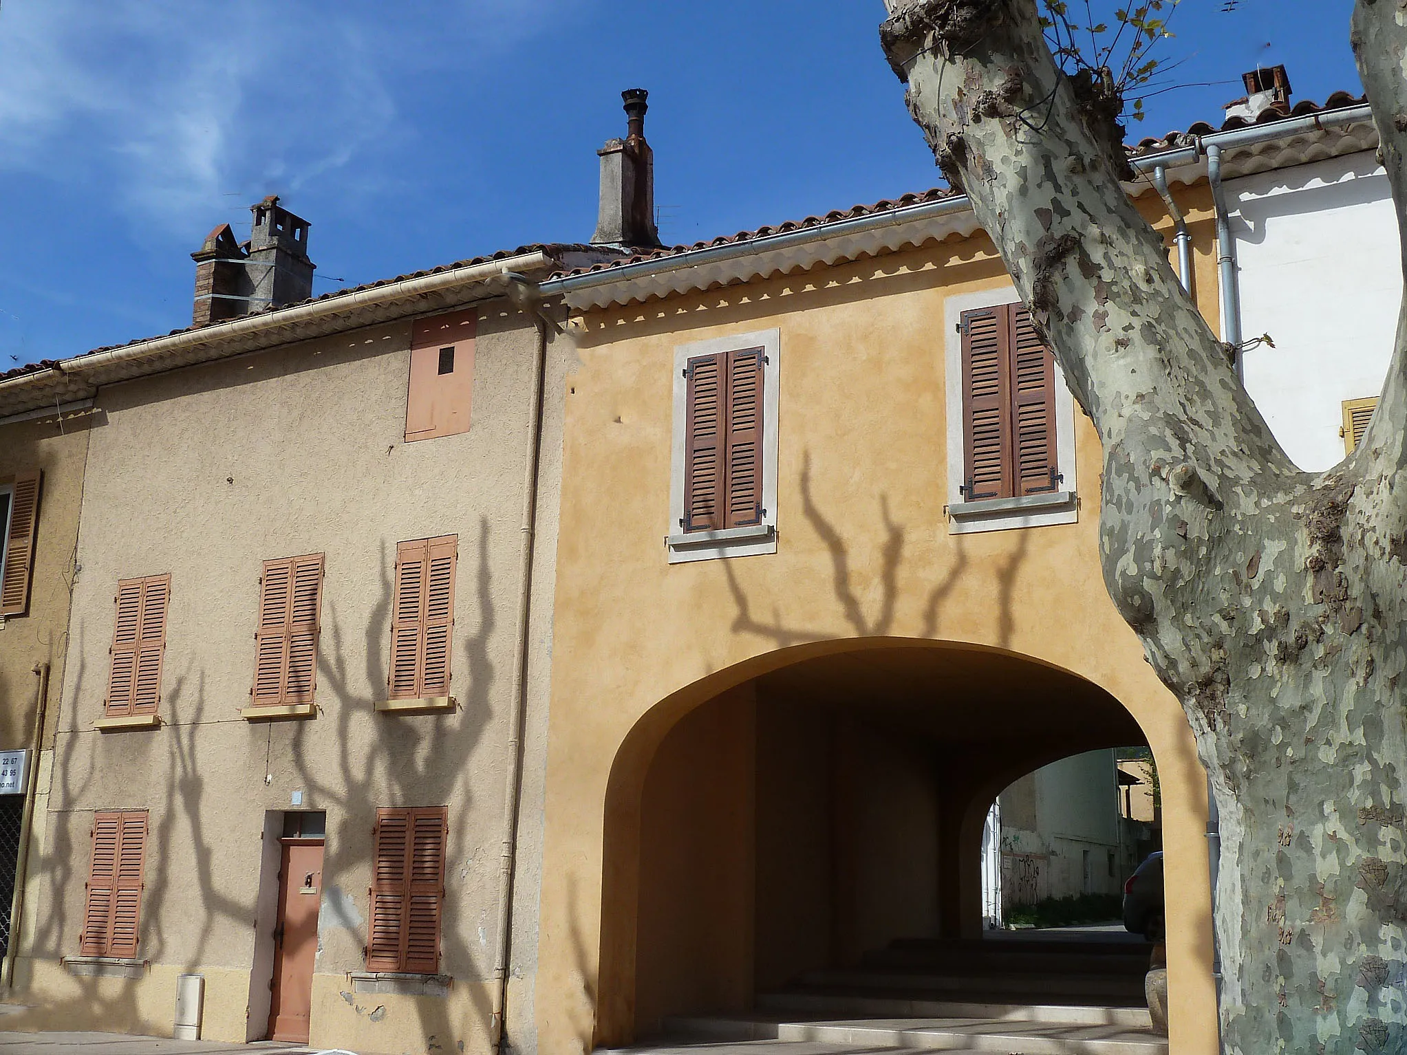
<instances>
[{"instance_id":1,"label":"lowest, frontmost pale stone step at the foot of the archway","mask_svg":"<svg viewBox=\"0 0 1407 1055\"><path fill-rule=\"evenodd\" d=\"M1168 1040L1147 1028L1062 1020L989 1017L775 1018L711 1016L667 1018L677 1042L791 1041L861 1049L1000 1052L1002 1055L1166 1055ZM657 1048L667 1051L667 1048Z\"/></svg>"}]
</instances>

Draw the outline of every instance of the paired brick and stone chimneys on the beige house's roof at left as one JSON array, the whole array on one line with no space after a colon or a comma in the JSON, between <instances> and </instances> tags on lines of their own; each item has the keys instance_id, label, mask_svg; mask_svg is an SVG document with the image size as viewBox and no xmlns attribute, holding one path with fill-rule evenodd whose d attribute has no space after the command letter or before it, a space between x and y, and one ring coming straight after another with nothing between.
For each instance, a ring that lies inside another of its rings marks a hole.
<instances>
[{"instance_id":1,"label":"paired brick and stone chimneys on the beige house's roof at left","mask_svg":"<svg viewBox=\"0 0 1407 1055\"><path fill-rule=\"evenodd\" d=\"M253 231L243 245L229 224L221 224L190 257L196 262L196 309L191 324L281 308L312 295L314 263L308 259L308 221L279 205L270 194L253 212Z\"/></svg>"}]
</instances>

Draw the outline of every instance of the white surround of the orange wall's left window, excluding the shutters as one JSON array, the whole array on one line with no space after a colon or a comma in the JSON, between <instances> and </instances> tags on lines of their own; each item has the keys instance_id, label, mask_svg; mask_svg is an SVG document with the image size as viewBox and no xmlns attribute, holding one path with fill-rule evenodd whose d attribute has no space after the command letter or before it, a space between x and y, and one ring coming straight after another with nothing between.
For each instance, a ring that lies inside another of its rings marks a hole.
<instances>
[{"instance_id":1,"label":"white surround of the orange wall's left window, excluding the shutters","mask_svg":"<svg viewBox=\"0 0 1407 1055\"><path fill-rule=\"evenodd\" d=\"M688 423L685 366L695 356L763 349L763 522L716 532L684 530L684 428ZM777 553L777 408L781 377L781 329L758 329L696 340L674 349L674 428L670 453L670 530L664 537L670 564L718 557L751 557Z\"/></svg>"}]
</instances>

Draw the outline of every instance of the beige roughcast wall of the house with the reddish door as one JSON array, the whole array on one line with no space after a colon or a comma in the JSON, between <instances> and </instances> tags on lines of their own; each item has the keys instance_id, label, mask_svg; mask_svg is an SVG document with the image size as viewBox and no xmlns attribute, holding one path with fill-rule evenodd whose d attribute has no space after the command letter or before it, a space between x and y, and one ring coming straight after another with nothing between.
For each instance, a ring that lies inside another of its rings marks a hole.
<instances>
[{"instance_id":1,"label":"beige roughcast wall of the house with the reddish door","mask_svg":"<svg viewBox=\"0 0 1407 1055\"><path fill-rule=\"evenodd\" d=\"M521 595L523 487L537 331L481 305L473 425L404 442L411 322L378 325L103 390L75 589L46 837L44 921L21 1028L169 1032L174 973L207 978L205 1031L246 1028L266 810L326 810L312 1042L359 1051L484 1051L492 1004L504 803ZM543 475L530 623L528 765L540 774L567 346L547 354ZM459 536L452 715L393 716L386 696L395 543ZM249 723L262 561L322 551L326 578L311 720ZM96 731L120 578L172 575L156 730ZM542 651L539 657L536 653ZM526 951L540 838L540 776L525 782L516 888ZM371 826L378 806L449 806L442 973L447 999L353 993L363 969ZM91 814L151 810L142 979L76 979ZM267 913L266 913L267 916ZM519 935L522 938L522 934ZM519 947L523 942L519 940ZM530 1007L515 964L511 1016ZM514 1003L514 996L522 997ZM377 1011L377 1009L381 1009ZM257 1016L255 1016L257 1017ZM433 1035L433 1040L428 1040Z\"/></svg>"}]
</instances>

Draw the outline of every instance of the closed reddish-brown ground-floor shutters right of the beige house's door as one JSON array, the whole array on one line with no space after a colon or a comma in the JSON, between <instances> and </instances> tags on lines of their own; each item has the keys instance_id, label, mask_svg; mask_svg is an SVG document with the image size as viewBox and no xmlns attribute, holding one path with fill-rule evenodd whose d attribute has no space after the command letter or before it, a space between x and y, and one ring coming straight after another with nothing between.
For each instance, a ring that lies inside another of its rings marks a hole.
<instances>
[{"instance_id":1,"label":"closed reddish-brown ground-floor shutters right of the beige house's door","mask_svg":"<svg viewBox=\"0 0 1407 1055\"><path fill-rule=\"evenodd\" d=\"M449 809L378 809L367 971L439 971Z\"/></svg>"}]
</instances>

